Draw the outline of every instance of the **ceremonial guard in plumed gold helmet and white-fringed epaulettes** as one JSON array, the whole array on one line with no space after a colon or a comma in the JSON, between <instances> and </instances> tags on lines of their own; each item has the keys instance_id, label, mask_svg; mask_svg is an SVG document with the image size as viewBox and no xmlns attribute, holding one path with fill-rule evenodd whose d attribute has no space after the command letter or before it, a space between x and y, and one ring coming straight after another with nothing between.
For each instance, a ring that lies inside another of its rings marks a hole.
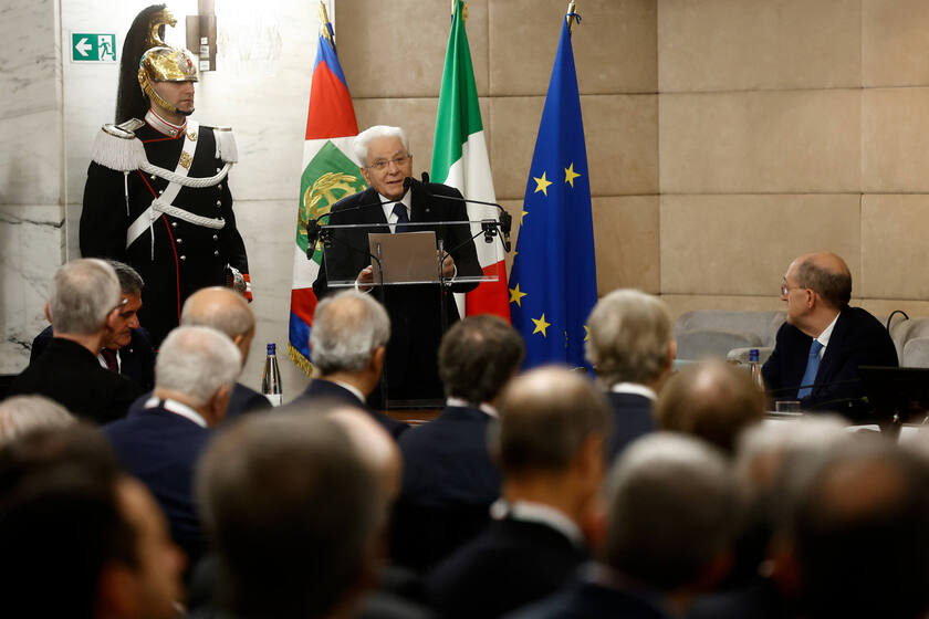
<instances>
[{"instance_id":1,"label":"ceremonial guard in plumed gold helmet and white-fringed epaulettes","mask_svg":"<svg viewBox=\"0 0 929 619\"><path fill-rule=\"evenodd\" d=\"M175 23L164 4L133 22L118 124L104 125L94 141L81 214L81 253L131 264L145 280L138 315L156 347L201 287L228 285L251 301L228 183L236 143L228 127L189 118L196 60L160 39Z\"/></svg>"}]
</instances>

